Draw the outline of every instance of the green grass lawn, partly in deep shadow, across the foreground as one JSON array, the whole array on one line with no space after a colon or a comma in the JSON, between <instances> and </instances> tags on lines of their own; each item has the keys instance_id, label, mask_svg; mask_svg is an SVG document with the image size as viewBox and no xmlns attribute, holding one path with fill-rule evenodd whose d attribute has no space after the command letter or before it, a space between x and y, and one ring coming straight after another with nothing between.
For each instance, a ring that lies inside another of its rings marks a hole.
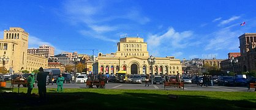
<instances>
[{"instance_id":1,"label":"green grass lawn, partly in deep shadow, across the foreground","mask_svg":"<svg viewBox=\"0 0 256 110\"><path fill-rule=\"evenodd\" d=\"M20 92L26 93L26 90L20 88ZM32 92L37 94L37 89ZM61 93L47 89L47 92L47 101L43 103L39 102L38 95L28 99L24 93L2 93L1 101L7 109L17 106L22 109L256 109L256 92L116 89L64 89ZM168 94L178 95L178 99L170 99ZM7 97L9 95L14 97Z\"/></svg>"}]
</instances>

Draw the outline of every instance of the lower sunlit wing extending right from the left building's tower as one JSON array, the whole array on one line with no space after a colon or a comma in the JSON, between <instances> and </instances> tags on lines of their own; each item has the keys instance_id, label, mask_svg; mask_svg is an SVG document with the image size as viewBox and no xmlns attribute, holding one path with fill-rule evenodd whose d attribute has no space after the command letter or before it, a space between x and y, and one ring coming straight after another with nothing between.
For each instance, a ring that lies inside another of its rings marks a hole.
<instances>
[{"instance_id":1,"label":"lower sunlit wing extending right from the left building's tower","mask_svg":"<svg viewBox=\"0 0 256 110\"><path fill-rule=\"evenodd\" d=\"M28 54L27 66L25 70L32 72L33 70L38 70L40 67L48 67L48 59L42 56L36 56L34 54Z\"/></svg>"}]
</instances>

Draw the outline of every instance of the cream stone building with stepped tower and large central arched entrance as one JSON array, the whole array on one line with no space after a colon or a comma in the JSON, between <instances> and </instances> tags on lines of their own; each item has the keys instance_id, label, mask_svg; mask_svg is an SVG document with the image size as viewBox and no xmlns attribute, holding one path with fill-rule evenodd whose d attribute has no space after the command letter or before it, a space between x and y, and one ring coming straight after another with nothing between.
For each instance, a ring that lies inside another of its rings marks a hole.
<instances>
[{"instance_id":1,"label":"cream stone building with stepped tower and large central arched entrance","mask_svg":"<svg viewBox=\"0 0 256 110\"><path fill-rule=\"evenodd\" d=\"M125 37L117 44L116 53L102 54L97 57L98 72L116 74L119 70L126 70L127 74L151 74L148 64L147 43L139 37ZM156 57L153 65L154 75L176 75L182 73L181 62L173 56Z\"/></svg>"}]
</instances>

